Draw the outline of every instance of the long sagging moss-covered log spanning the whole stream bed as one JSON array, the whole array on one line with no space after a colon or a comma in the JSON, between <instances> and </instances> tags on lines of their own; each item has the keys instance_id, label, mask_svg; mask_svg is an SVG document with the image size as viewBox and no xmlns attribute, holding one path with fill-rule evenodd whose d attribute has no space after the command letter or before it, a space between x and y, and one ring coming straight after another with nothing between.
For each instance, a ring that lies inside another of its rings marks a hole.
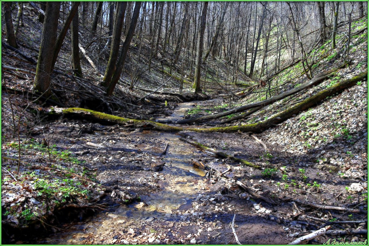
<instances>
[{"instance_id":1,"label":"long sagging moss-covered log spanning the whole stream bed","mask_svg":"<svg viewBox=\"0 0 369 246\"><path fill-rule=\"evenodd\" d=\"M135 127L147 127L149 129L155 129L159 131L194 131L194 132L237 132L237 131L251 131L251 132L262 132L270 127L274 127L277 124L282 123L284 120L297 115L299 112L311 108L316 105L318 102L327 98L328 96L332 96L342 90L352 87L358 81L366 80L368 77L368 72L363 72L351 79L339 82L332 87L329 87L317 94L311 96L304 101L297 103L295 106L284 110L281 113L276 114L268 120L264 120L259 123L247 124L243 126L226 126L226 127L210 127L210 128L200 128L200 127L183 127L183 126L169 126L167 124L154 122L151 120L136 120L136 119L128 119L115 115L109 115L107 113L101 113L90 109L83 108L55 108L55 110L51 110L48 112L48 116L50 117L68 117L72 119L89 119L95 122L110 122L120 125L133 125Z\"/></svg>"}]
</instances>

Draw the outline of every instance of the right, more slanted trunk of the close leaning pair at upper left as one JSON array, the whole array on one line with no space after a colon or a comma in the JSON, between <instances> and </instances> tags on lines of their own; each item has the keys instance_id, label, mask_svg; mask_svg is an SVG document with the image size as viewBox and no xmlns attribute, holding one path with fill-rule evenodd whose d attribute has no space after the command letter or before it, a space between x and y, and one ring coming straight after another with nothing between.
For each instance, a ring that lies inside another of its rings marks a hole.
<instances>
[{"instance_id":1,"label":"right, more slanted trunk of the close leaning pair at upper left","mask_svg":"<svg viewBox=\"0 0 369 246\"><path fill-rule=\"evenodd\" d=\"M128 52L128 48L130 47L130 43L132 40L132 37L134 35L134 31L136 28L136 24L137 24L137 19L138 19L138 15L139 15L139 9L141 6L141 2L135 2L135 8L133 11L133 15L132 15L132 19L131 19L131 25L130 25L130 29L128 30L128 34L125 37L124 43L123 43L123 48L117 63L117 68L114 71L113 74L113 78L107 88L107 95L110 96L111 94L113 94L115 85L117 84L120 75L123 71L124 68L124 62L125 62L125 57L127 56L127 52Z\"/></svg>"}]
</instances>

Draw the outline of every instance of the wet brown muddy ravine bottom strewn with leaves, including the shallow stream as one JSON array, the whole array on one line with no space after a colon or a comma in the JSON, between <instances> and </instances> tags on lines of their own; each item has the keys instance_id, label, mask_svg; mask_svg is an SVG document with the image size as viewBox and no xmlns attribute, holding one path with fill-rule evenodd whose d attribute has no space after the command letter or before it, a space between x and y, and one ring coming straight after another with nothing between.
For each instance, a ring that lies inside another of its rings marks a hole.
<instances>
[{"instance_id":1,"label":"wet brown muddy ravine bottom strewn with leaves, including the shallow stream","mask_svg":"<svg viewBox=\"0 0 369 246\"><path fill-rule=\"evenodd\" d=\"M171 116L163 119L175 122L197 103L179 104ZM205 102L207 106L214 106L214 103L219 102ZM86 126L95 130L84 133L81 129ZM50 123L49 132L53 134L52 144L74 153L83 161L80 165L95 171L98 183L116 193L106 192L101 202L107 206L92 216L83 213L74 215L75 218L70 218L73 222L59 225L63 230L55 229L54 233L28 240L10 238L14 243L236 244L231 228L235 214L235 230L242 243L286 244L295 239L289 238L290 234L319 229L329 224L330 219L365 218L361 214L318 210L304 205L304 201L341 203L341 197L337 194L352 182L343 177L328 178L328 170L323 172L325 176L319 177L315 174L321 171L310 157L281 152L284 147L278 144L273 144L266 151L254 138L244 134L161 133L66 120L58 124ZM41 139L43 136L39 134L32 137ZM264 170L276 168L277 174L265 176L263 170L214 157L180 141L179 137L246 159L263 166ZM87 142L104 147L91 147L86 145ZM166 143L168 149L161 155ZM192 160L202 162L207 170L197 168ZM152 171L158 163L165 163L162 171ZM209 178L207 174L211 168L214 171ZM231 171L224 174L228 180L222 179L220 172L228 168ZM301 168L307 179L299 175ZM288 177L283 176L283 173L287 173ZM235 185L236 180L252 187L262 196L271 197L276 204L250 195ZM287 183L291 187L286 187ZM309 183L311 185L306 186ZM318 187L314 184L318 184ZM122 204L120 191L132 198L133 202ZM290 201L301 201L298 204L300 211ZM358 202L355 208L366 207L366 202ZM304 218L306 215L321 221L311 221ZM346 226L356 229L360 225L332 224L333 229L345 229ZM323 236L311 243L321 244L329 238ZM340 239L348 240L344 237Z\"/></svg>"}]
</instances>

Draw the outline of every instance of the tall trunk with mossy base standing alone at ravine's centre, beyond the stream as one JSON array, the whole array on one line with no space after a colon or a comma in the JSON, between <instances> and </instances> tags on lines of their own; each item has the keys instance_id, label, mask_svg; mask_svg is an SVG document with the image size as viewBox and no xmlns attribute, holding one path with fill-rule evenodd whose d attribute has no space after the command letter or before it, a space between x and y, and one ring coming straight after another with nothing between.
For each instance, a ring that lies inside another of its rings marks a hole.
<instances>
[{"instance_id":1,"label":"tall trunk with mossy base standing alone at ravine's centre, beyond the stream","mask_svg":"<svg viewBox=\"0 0 369 246\"><path fill-rule=\"evenodd\" d=\"M204 2L201 22L200 22L200 36L199 42L197 45L197 54L196 54L196 68L195 68L195 81L193 87L195 88L195 93L201 92L200 87L200 77L201 77L201 62L203 56L203 46L204 46L204 32L205 32L205 24L206 24L206 12L207 12L208 2Z\"/></svg>"}]
</instances>

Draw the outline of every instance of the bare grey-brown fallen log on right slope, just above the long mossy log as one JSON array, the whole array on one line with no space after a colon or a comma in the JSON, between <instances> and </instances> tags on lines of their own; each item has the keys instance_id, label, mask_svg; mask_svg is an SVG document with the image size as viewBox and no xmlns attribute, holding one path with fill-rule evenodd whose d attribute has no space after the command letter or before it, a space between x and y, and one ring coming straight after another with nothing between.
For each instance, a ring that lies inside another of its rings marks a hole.
<instances>
[{"instance_id":1,"label":"bare grey-brown fallen log on right slope, just above the long mossy log","mask_svg":"<svg viewBox=\"0 0 369 246\"><path fill-rule=\"evenodd\" d=\"M241 106L241 107L238 107L238 108L227 110L225 112L216 113L214 115L205 115L205 116L195 117L195 118L191 118L191 119L179 120L178 123L184 124L184 123L190 123L190 122L199 122L199 121L203 121L203 120L215 119L215 118L219 118L219 117L222 117L222 116L231 115L233 113L242 112L242 111L245 111L247 109L252 109L252 108L256 108L256 107L260 107L260 106L261 107L268 106L268 105L272 104L273 102L279 101L283 98L286 98L287 96L296 94L297 92L300 92L303 89L309 88L313 85L317 85L317 84L323 82L328 77L333 75L333 73L335 71L337 71L340 68L345 67L347 64L348 64L348 62L345 62L344 64L342 64L341 66L339 66L337 68L334 68L334 69L329 70L327 72L320 73L320 74L316 75L314 78L312 78L311 80L307 81L306 83L304 83L304 84L302 84L298 87L295 87L293 89L290 89L289 91L283 92L279 95L272 96L271 98L265 99L264 101L251 103L251 104L248 104L248 105L245 105L245 106Z\"/></svg>"}]
</instances>

